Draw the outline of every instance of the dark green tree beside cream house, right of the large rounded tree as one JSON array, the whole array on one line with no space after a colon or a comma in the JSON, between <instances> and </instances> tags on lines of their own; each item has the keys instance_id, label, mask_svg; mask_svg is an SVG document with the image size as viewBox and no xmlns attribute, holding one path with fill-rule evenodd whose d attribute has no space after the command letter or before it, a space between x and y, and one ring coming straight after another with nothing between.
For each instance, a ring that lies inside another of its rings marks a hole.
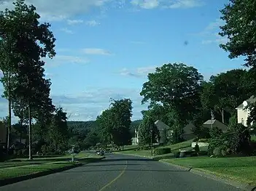
<instances>
[{"instance_id":1,"label":"dark green tree beside cream house, right of the large rounded tree","mask_svg":"<svg viewBox=\"0 0 256 191\"><path fill-rule=\"evenodd\" d=\"M253 83L246 70L229 70L212 76L209 82L203 82L201 103L203 110L214 110L221 116L222 123L228 123L235 108L252 95ZM218 115L216 116L218 118Z\"/></svg>"}]
</instances>

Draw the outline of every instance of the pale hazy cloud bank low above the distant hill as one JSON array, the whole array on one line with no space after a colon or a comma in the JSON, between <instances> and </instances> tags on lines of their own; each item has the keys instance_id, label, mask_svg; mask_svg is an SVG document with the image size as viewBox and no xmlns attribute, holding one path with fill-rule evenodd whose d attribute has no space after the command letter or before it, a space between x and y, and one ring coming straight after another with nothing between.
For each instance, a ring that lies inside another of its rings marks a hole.
<instances>
[{"instance_id":1,"label":"pale hazy cloud bank low above the distant hill","mask_svg":"<svg viewBox=\"0 0 256 191\"><path fill-rule=\"evenodd\" d=\"M79 94L52 95L55 105L63 107L69 120L89 121L95 120L103 110L109 107L109 99L130 98L133 101L133 120L141 118L141 110L147 105L141 105L140 89L123 88L96 88L92 87Z\"/></svg>"}]
</instances>

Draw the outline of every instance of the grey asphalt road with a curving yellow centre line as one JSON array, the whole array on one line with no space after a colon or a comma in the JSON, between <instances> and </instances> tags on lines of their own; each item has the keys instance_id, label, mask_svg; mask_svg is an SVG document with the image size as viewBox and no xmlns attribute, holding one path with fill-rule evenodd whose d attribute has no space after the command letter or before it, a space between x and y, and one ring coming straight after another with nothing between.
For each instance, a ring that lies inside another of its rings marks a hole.
<instances>
[{"instance_id":1,"label":"grey asphalt road with a curving yellow centre line","mask_svg":"<svg viewBox=\"0 0 256 191\"><path fill-rule=\"evenodd\" d=\"M56 174L0 187L1 191L238 191L222 182L180 170L154 160L106 155Z\"/></svg>"}]
</instances>

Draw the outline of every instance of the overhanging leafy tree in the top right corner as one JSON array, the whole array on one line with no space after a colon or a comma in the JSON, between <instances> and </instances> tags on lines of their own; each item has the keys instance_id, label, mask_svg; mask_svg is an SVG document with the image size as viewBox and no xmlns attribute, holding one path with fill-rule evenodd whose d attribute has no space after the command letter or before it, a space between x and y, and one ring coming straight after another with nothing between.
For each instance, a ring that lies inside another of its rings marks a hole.
<instances>
[{"instance_id":1,"label":"overhanging leafy tree in the top right corner","mask_svg":"<svg viewBox=\"0 0 256 191\"><path fill-rule=\"evenodd\" d=\"M236 57L246 57L245 66L251 68L251 77L256 79L256 1L255 0L230 0L225 7L220 10L221 19L225 25L221 26L220 36L228 38L226 44L220 44L220 47L229 52L230 59ZM256 96L256 89L254 91ZM251 105L252 112L249 120L256 121L256 104Z\"/></svg>"}]
</instances>

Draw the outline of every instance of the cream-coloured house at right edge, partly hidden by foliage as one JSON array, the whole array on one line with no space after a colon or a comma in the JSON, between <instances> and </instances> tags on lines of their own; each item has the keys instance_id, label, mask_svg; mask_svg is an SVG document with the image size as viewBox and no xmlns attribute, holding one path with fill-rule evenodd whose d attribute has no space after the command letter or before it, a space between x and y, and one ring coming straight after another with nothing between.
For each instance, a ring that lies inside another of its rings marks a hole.
<instances>
[{"instance_id":1,"label":"cream-coloured house at right edge, partly hidden by foliage","mask_svg":"<svg viewBox=\"0 0 256 191\"><path fill-rule=\"evenodd\" d=\"M256 102L256 98L254 96L250 97L249 99L245 100L236 107L237 110L237 123L242 123L244 126L247 126L247 119L249 117L249 108L247 106Z\"/></svg>"}]
</instances>

